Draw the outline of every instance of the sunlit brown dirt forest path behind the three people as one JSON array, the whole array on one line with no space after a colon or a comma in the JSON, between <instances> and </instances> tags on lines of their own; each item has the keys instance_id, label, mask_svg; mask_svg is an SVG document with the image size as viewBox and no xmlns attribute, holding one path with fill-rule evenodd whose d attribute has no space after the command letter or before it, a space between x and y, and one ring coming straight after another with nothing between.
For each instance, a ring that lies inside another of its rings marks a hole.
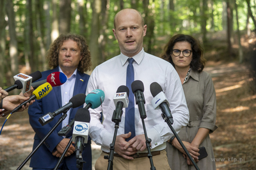
<instances>
[{"instance_id":1,"label":"sunlit brown dirt forest path behind the three people","mask_svg":"<svg viewBox=\"0 0 256 170\"><path fill-rule=\"evenodd\" d=\"M256 167L256 96L246 66L236 63L207 63L205 71L211 73L217 96L218 129L211 134L220 170L255 169ZM0 118L3 125L4 118ZM34 132L28 114L13 113L0 136L0 169L17 169L28 157L33 145ZM93 164L100 148L93 144ZM29 168L29 162L22 169Z\"/></svg>"}]
</instances>

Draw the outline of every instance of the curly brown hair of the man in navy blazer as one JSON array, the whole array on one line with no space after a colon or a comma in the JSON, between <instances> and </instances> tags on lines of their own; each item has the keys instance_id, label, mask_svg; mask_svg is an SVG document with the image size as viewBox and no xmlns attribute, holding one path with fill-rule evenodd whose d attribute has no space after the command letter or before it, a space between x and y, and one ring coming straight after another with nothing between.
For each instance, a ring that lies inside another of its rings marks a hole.
<instances>
[{"instance_id":1,"label":"curly brown hair of the man in navy blazer","mask_svg":"<svg viewBox=\"0 0 256 170\"><path fill-rule=\"evenodd\" d=\"M67 41L68 39L76 41L77 45L81 50L80 55L82 59L80 60L77 66L78 71L84 73L85 71L90 70L90 67L92 66L92 61L88 45L83 36L79 36L76 34L61 34L57 39L54 40L54 42L51 44L47 52L47 59L49 59L49 67L55 68L59 65L58 56L60 47L61 45L63 45L63 42Z\"/></svg>"}]
</instances>

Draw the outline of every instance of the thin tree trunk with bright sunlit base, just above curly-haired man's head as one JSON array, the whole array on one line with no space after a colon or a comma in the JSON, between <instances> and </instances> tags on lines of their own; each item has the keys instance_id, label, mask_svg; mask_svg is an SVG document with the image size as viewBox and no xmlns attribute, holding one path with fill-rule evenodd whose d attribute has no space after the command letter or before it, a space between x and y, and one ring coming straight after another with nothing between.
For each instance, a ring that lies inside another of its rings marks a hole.
<instances>
[{"instance_id":1,"label":"thin tree trunk with bright sunlit base, just above curly-haired man's head","mask_svg":"<svg viewBox=\"0 0 256 170\"><path fill-rule=\"evenodd\" d=\"M53 42L58 38L59 32L59 22L58 22L58 8L57 0L52 0L52 32L51 41Z\"/></svg>"}]
</instances>

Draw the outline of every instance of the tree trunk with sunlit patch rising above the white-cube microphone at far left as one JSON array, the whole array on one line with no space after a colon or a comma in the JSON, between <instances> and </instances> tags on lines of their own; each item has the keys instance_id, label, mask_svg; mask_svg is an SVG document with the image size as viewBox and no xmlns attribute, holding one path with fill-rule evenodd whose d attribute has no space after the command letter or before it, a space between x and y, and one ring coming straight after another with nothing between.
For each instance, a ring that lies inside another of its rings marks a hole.
<instances>
[{"instance_id":1,"label":"tree trunk with sunlit patch rising above the white-cube microphone at far left","mask_svg":"<svg viewBox=\"0 0 256 170\"><path fill-rule=\"evenodd\" d=\"M12 75L19 73L18 66L18 45L17 45L17 36L16 36L16 24L15 24L15 13L13 11L12 1L6 1L6 14L8 16L8 25L9 25L9 35L10 35L10 60L11 60L11 71ZM13 80L13 79L11 79Z\"/></svg>"}]
</instances>

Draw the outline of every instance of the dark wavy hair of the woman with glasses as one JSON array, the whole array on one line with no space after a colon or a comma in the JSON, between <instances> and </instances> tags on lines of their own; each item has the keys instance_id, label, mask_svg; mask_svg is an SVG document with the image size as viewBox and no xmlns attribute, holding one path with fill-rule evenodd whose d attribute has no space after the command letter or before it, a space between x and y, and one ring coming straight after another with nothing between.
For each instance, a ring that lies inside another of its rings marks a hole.
<instances>
[{"instance_id":1,"label":"dark wavy hair of the woman with glasses","mask_svg":"<svg viewBox=\"0 0 256 170\"><path fill-rule=\"evenodd\" d=\"M161 58L164 60L167 60L168 62L170 62L173 65L173 67L175 67L173 60L172 60L171 53L172 53L173 46L175 45L175 43L182 42L182 41L186 41L186 42L190 43L192 53L193 53L190 67L191 67L191 69L198 71L200 73L201 71L203 71L204 66L205 66L205 59L203 56L204 50L200 46L198 40L196 40L192 36L185 35L185 34L177 34L177 35L173 36L168 41L168 43L164 46L164 52L161 54Z\"/></svg>"}]
</instances>

